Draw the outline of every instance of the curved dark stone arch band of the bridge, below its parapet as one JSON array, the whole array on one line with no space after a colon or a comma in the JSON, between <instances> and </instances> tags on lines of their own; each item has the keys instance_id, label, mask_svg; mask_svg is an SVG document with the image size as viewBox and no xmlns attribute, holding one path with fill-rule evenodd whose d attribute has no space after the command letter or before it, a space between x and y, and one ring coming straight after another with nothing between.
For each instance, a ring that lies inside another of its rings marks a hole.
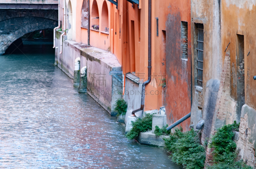
<instances>
[{"instance_id":1,"label":"curved dark stone arch band of the bridge, below its parapet","mask_svg":"<svg viewBox=\"0 0 256 169\"><path fill-rule=\"evenodd\" d=\"M58 21L41 17L16 17L0 21L0 55L23 35L42 29L54 29Z\"/></svg>"}]
</instances>

